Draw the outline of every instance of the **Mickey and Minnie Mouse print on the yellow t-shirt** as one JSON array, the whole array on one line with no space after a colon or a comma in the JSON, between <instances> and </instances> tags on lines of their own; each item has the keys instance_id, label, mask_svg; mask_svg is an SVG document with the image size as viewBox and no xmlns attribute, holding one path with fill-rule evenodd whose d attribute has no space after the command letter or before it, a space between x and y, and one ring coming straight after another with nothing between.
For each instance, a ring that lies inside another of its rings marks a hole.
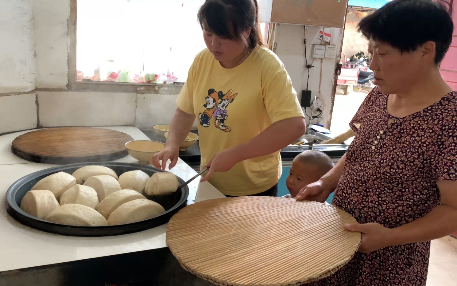
<instances>
[{"instance_id":1,"label":"Mickey and Minnie Mouse print on the yellow t-shirt","mask_svg":"<svg viewBox=\"0 0 457 286\"><path fill-rule=\"evenodd\" d=\"M225 125L225 120L228 118L228 105L232 103L238 93L232 94L232 90L226 93L222 91L216 92L215 89L211 88L208 90L208 96L205 97L205 104L203 107L206 110L203 113L198 114L200 125L203 127L209 127L210 119L214 118L214 126L225 132L230 132L232 129Z\"/></svg>"}]
</instances>

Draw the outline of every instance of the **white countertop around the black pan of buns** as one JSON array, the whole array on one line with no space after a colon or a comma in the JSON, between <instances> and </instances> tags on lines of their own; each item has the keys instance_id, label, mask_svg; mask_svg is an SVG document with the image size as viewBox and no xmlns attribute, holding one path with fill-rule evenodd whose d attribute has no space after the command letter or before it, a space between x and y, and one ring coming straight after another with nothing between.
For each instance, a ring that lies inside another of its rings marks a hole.
<instances>
[{"instance_id":1,"label":"white countertop around the black pan of buns","mask_svg":"<svg viewBox=\"0 0 457 286\"><path fill-rule=\"evenodd\" d=\"M149 140L135 127L103 127L124 132L135 140ZM166 225L143 232L110 237L69 237L36 230L17 222L6 213L5 194L17 179L56 165L32 163L11 153L11 142L29 131L0 136L0 272L80 259L164 248ZM137 161L126 156L114 162ZM181 159L171 170L187 180L197 173ZM189 185L190 203L224 197L210 183L197 178Z\"/></svg>"}]
</instances>

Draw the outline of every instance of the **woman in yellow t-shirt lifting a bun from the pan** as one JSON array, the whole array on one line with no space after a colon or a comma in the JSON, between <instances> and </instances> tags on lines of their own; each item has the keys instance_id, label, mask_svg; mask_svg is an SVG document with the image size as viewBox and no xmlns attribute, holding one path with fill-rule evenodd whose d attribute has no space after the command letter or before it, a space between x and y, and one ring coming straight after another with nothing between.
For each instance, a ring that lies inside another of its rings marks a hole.
<instances>
[{"instance_id":1,"label":"woman in yellow t-shirt lifting a bun from the pan","mask_svg":"<svg viewBox=\"0 0 457 286\"><path fill-rule=\"evenodd\" d=\"M202 5L207 49L191 65L165 148L152 160L155 167L165 169L168 160L174 167L197 119L201 167L209 167L202 180L228 196L276 196L279 151L306 130L284 65L261 43L257 15L256 0Z\"/></svg>"}]
</instances>

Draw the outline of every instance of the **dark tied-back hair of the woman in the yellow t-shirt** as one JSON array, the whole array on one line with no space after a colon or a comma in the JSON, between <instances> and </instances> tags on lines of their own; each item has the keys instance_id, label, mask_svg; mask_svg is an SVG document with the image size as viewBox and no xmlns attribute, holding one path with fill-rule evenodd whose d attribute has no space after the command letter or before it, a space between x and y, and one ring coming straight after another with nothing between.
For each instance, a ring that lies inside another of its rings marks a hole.
<instances>
[{"instance_id":1,"label":"dark tied-back hair of the woman in the yellow t-shirt","mask_svg":"<svg viewBox=\"0 0 457 286\"><path fill-rule=\"evenodd\" d=\"M251 28L248 49L262 45L257 0L206 0L198 11L202 29L221 38L242 40L242 33Z\"/></svg>"}]
</instances>

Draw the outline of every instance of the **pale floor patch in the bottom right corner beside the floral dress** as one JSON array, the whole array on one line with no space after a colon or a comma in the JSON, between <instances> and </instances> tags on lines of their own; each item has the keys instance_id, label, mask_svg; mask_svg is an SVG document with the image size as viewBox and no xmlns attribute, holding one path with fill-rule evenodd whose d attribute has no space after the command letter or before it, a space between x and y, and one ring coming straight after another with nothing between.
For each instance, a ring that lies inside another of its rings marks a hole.
<instances>
[{"instance_id":1,"label":"pale floor patch in the bottom right corner beside the floral dress","mask_svg":"<svg viewBox=\"0 0 457 286\"><path fill-rule=\"evenodd\" d=\"M442 237L431 242L427 286L457 285L457 238Z\"/></svg>"}]
</instances>

